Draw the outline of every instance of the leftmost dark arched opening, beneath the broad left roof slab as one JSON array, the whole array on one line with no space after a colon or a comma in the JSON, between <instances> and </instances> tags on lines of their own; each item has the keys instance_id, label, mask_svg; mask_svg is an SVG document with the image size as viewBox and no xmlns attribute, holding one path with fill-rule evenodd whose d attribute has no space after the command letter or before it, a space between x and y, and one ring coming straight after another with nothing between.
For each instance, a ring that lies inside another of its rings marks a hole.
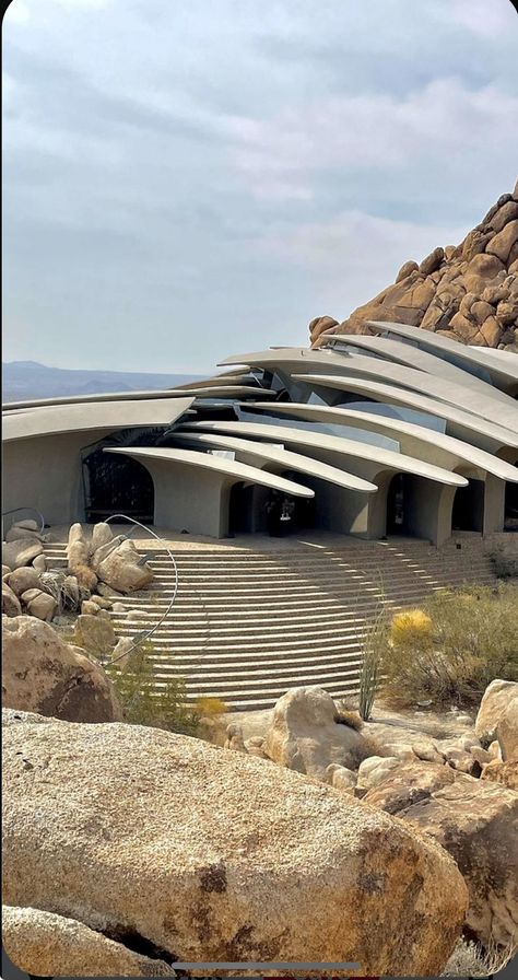
<instances>
[{"instance_id":1,"label":"leftmost dark arched opening, beneath the broad left roof slab","mask_svg":"<svg viewBox=\"0 0 518 980\"><path fill-rule=\"evenodd\" d=\"M145 466L98 446L83 459L84 517L87 524L127 514L153 524L154 485Z\"/></svg>"}]
</instances>

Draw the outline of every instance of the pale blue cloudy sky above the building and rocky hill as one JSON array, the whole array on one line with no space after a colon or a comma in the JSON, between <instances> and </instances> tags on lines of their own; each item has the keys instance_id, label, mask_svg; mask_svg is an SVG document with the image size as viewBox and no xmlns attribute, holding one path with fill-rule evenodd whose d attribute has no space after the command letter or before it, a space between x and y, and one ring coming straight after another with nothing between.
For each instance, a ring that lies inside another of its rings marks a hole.
<instances>
[{"instance_id":1,"label":"pale blue cloudy sky above the building and rocky hill","mask_svg":"<svg viewBox=\"0 0 518 980\"><path fill-rule=\"evenodd\" d=\"M518 172L509 0L13 0L4 360L305 345Z\"/></svg>"}]
</instances>

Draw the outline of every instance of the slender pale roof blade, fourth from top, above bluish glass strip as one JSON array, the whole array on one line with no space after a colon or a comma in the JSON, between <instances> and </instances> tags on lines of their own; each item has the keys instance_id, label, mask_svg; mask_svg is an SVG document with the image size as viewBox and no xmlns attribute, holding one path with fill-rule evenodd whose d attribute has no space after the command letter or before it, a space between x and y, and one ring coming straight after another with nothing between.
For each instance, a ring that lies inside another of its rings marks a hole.
<instances>
[{"instance_id":1,"label":"slender pale roof blade, fourth from top, above bluish glass strip","mask_svg":"<svg viewBox=\"0 0 518 980\"><path fill-rule=\"evenodd\" d=\"M476 434L482 433L487 439L493 439L499 445L518 446L518 434L510 429L495 425L493 422L488 422L471 412L462 411L454 405L438 401L436 398L429 398L427 395L420 395L410 388L399 388L397 385L386 385L369 378L337 378L335 375L326 376L323 374L295 374L293 376L297 381L307 382L313 387L358 392L374 400L389 401L395 405L408 405L409 408L415 408L419 411L427 412L429 416L446 419Z\"/></svg>"}]
</instances>

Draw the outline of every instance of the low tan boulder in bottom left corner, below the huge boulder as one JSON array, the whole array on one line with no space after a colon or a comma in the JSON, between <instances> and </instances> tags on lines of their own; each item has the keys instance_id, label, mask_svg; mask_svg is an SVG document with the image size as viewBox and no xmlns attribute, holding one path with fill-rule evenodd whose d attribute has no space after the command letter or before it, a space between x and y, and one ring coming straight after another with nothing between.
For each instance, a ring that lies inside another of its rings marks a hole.
<instances>
[{"instance_id":1,"label":"low tan boulder in bottom left corner, below the huge boulder","mask_svg":"<svg viewBox=\"0 0 518 980\"><path fill-rule=\"evenodd\" d=\"M133 953L75 919L40 909L2 908L3 948L36 977L170 977L172 967Z\"/></svg>"}]
</instances>

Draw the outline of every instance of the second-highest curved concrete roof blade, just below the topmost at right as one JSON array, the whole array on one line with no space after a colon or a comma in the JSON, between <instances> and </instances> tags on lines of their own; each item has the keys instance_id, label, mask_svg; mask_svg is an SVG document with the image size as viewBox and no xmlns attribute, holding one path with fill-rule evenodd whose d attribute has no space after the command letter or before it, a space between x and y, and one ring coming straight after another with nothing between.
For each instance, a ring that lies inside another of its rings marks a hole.
<instances>
[{"instance_id":1,"label":"second-highest curved concrete roof blade, just below the topmost at right","mask_svg":"<svg viewBox=\"0 0 518 980\"><path fill-rule=\"evenodd\" d=\"M474 374L468 374L462 368L450 364L444 358L438 358L421 347L415 347L414 343L402 343L401 340L393 340L389 337L369 337L365 334L330 334L326 338L326 348L334 350L335 343L346 343L349 347L357 348L358 350L372 351L389 361L396 361L398 364L416 368L420 371L425 371L427 374L438 375L439 377L449 377L451 381L460 384L469 383L470 387L487 394L487 382L482 381ZM491 397L506 404L508 396L501 388L493 387Z\"/></svg>"}]
</instances>

